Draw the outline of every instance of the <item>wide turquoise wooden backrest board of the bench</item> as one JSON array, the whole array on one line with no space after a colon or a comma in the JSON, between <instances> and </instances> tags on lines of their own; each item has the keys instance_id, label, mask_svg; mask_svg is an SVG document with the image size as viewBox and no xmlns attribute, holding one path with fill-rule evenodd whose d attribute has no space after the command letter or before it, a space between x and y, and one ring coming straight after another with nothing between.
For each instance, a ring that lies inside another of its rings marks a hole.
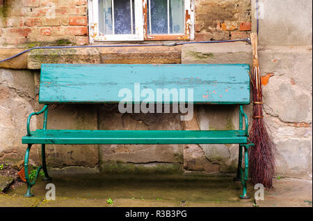
<instances>
[{"instance_id":1,"label":"wide turquoise wooden backrest board of the bench","mask_svg":"<svg viewBox=\"0 0 313 221\"><path fill-rule=\"evenodd\" d=\"M177 91L179 101L187 102L193 89L195 104L248 104L248 73L248 64L42 64L39 102L117 103L129 91L129 102L177 101L175 96L160 101L157 89ZM151 92L154 98L147 96Z\"/></svg>"}]
</instances>

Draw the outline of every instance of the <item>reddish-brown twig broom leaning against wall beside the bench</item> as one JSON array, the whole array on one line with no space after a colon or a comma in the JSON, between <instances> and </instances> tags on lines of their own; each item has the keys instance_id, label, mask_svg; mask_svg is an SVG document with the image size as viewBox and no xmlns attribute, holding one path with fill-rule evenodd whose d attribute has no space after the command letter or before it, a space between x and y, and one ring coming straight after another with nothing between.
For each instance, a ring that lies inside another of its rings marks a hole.
<instances>
[{"instance_id":1,"label":"reddish-brown twig broom leaning against wall beside the bench","mask_svg":"<svg viewBox=\"0 0 313 221\"><path fill-rule=\"evenodd\" d=\"M253 68L251 74L253 96L253 121L250 140L255 144L249 150L249 173L252 184L262 183L264 188L273 189L274 144L266 130L262 113L262 86L257 56L257 33L251 33Z\"/></svg>"}]
</instances>

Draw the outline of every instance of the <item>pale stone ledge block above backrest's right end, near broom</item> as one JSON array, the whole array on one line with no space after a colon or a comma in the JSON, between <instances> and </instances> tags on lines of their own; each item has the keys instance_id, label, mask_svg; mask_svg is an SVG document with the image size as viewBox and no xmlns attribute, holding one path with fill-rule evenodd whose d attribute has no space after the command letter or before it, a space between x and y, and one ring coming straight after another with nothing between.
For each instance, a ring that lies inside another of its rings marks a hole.
<instances>
[{"instance_id":1,"label":"pale stone ledge block above backrest's right end, near broom","mask_svg":"<svg viewBox=\"0 0 313 221\"><path fill-rule=\"evenodd\" d=\"M252 63L252 49L242 42L187 44L182 63Z\"/></svg>"}]
</instances>

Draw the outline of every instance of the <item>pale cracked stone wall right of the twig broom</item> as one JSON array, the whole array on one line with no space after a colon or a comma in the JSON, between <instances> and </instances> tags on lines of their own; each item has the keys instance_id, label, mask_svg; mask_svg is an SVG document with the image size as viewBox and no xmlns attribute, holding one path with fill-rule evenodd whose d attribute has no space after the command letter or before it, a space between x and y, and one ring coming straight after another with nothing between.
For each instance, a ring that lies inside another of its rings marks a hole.
<instances>
[{"instance_id":1,"label":"pale cracked stone wall right of the twig broom","mask_svg":"<svg viewBox=\"0 0 313 221\"><path fill-rule=\"evenodd\" d=\"M264 76L273 74L263 91L265 119L277 148L276 171L312 178L312 1L259 2L264 9L260 68Z\"/></svg>"}]
</instances>

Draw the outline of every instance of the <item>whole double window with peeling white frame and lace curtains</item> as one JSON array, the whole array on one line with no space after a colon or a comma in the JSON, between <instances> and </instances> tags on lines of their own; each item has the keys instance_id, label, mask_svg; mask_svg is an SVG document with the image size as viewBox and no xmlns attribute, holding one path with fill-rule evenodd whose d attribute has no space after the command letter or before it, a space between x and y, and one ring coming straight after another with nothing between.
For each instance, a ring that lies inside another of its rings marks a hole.
<instances>
[{"instance_id":1,"label":"whole double window with peeling white frame and lace curtains","mask_svg":"<svg viewBox=\"0 0 313 221\"><path fill-rule=\"evenodd\" d=\"M193 39L192 0L89 0L90 43Z\"/></svg>"}]
</instances>

